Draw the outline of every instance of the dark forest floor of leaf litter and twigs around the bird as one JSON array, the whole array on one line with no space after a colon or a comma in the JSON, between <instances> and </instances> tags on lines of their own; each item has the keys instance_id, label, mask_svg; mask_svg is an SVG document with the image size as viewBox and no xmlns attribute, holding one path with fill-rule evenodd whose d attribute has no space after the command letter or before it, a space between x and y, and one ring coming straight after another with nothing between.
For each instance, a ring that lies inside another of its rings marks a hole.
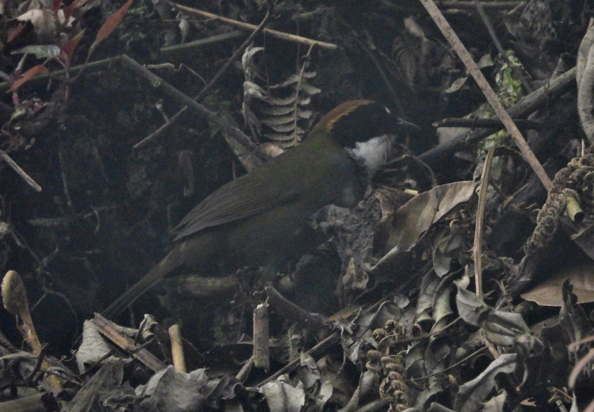
<instances>
[{"instance_id":1,"label":"dark forest floor of leaf litter and twigs around the bird","mask_svg":"<svg viewBox=\"0 0 594 412\"><path fill-rule=\"evenodd\" d=\"M0 7L0 412L594 410L590 2ZM419 131L318 250L100 315L357 99Z\"/></svg>"}]
</instances>

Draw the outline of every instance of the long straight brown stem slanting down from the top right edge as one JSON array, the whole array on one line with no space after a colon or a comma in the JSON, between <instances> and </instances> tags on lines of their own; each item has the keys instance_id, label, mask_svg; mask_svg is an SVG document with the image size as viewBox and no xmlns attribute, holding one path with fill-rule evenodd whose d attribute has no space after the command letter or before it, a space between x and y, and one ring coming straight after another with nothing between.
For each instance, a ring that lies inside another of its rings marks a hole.
<instances>
[{"instance_id":1,"label":"long straight brown stem slanting down from the top right edge","mask_svg":"<svg viewBox=\"0 0 594 412\"><path fill-rule=\"evenodd\" d=\"M451 28L450 24L447 22L447 20L445 20L443 13L437 8L433 0L420 1L429 15L431 15L431 18L435 24L437 24L438 28L440 28L441 33L443 33L445 36L445 39L447 39L447 41L456 51L457 55L460 57L460 59L462 59L462 62L465 64L466 68L481 88L486 100L489 102L489 104L491 104L491 107L495 110L495 113L497 113L499 118L503 121L505 129L507 129L511 137L516 142L516 145L520 149L520 152L522 152L526 162L530 165L530 167L532 167L532 170L534 170L546 190L550 190L552 187L551 178L546 174L541 162L538 161L530 149L530 146L528 143L526 143L522 133L520 130L518 130L513 120L511 120L510 114L507 113L501 102L498 100L497 95L491 88L491 85L489 85L489 82L482 74L481 70L476 65L475 60L472 59L472 56L468 50L466 50L466 47L464 44L462 44L462 41L460 41L456 33L454 33L454 30Z\"/></svg>"}]
</instances>

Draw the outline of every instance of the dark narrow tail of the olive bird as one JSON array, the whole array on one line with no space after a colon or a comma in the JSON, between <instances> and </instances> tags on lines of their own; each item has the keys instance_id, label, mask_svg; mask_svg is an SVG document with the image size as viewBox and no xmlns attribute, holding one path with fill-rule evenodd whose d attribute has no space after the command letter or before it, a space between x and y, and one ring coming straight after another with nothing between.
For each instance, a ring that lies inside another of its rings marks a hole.
<instances>
[{"instance_id":1,"label":"dark narrow tail of the olive bird","mask_svg":"<svg viewBox=\"0 0 594 412\"><path fill-rule=\"evenodd\" d=\"M179 266L178 261L174 258L177 253L177 248L173 248L173 250L170 251L169 254L157 264L157 266L153 267L149 273L144 275L138 282L134 283L131 288L126 290L118 299L113 301L112 304L103 310L102 315L106 318L113 318L121 314L126 306L134 303L136 299L140 298L140 296L148 292L153 286L157 285L157 283L159 283L169 272L172 272L173 269Z\"/></svg>"}]
</instances>

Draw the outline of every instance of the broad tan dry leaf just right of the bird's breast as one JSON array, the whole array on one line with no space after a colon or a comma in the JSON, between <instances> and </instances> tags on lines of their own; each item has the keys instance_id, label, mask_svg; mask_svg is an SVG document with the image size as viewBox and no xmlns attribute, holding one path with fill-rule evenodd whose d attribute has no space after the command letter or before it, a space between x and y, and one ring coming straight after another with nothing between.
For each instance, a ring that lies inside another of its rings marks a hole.
<instances>
[{"instance_id":1,"label":"broad tan dry leaf just right of the bird's breast","mask_svg":"<svg viewBox=\"0 0 594 412\"><path fill-rule=\"evenodd\" d=\"M395 247L402 251L410 250L433 223L453 207L467 202L475 193L475 188L474 181L459 181L434 187L413 197L394 213L394 225L386 250Z\"/></svg>"}]
</instances>

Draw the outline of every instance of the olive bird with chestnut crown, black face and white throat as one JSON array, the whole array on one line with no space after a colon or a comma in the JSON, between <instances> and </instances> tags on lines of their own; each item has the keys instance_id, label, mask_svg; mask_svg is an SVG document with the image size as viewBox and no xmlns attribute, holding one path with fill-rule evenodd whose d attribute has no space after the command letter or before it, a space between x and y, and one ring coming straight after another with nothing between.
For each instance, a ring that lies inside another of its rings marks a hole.
<instances>
[{"instance_id":1,"label":"olive bird with chestnut crown, black face and white throat","mask_svg":"<svg viewBox=\"0 0 594 412\"><path fill-rule=\"evenodd\" d=\"M298 260L325 240L308 224L309 217L328 205L355 206L386 164L395 139L416 128L376 101L340 104L295 148L191 209L174 229L170 252L103 315L115 317L179 270L210 275L261 267L274 272Z\"/></svg>"}]
</instances>

